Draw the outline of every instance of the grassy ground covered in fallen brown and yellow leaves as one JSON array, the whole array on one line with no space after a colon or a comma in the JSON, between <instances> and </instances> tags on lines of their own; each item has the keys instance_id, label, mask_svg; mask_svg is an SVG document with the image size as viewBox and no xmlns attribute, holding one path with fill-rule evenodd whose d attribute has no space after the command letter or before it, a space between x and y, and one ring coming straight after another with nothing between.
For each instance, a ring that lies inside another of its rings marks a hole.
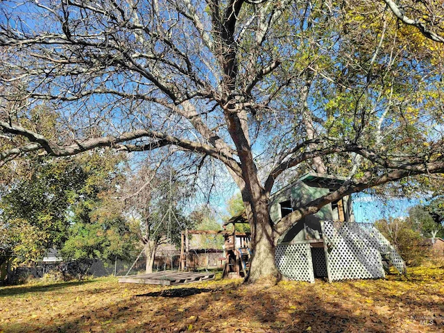
<instances>
[{"instance_id":1,"label":"grassy ground covered in fallen brown and yellow leaves","mask_svg":"<svg viewBox=\"0 0 444 333\"><path fill-rule=\"evenodd\" d=\"M444 266L273 287L114 278L0 288L3 332L444 332Z\"/></svg>"}]
</instances>

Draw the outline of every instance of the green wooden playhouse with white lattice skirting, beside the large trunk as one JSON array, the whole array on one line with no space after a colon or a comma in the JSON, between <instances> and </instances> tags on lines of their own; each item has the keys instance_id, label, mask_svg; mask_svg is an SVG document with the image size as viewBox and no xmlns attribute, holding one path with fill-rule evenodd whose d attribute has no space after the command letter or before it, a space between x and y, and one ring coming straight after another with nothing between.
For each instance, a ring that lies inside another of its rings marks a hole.
<instances>
[{"instance_id":1,"label":"green wooden playhouse with white lattice skirting, beside the large trunk","mask_svg":"<svg viewBox=\"0 0 444 333\"><path fill-rule=\"evenodd\" d=\"M273 222L295 207L338 189L345 178L307 173L271 196ZM356 223L352 199L345 196L306 216L285 232L276 248L275 262L289 280L314 282L383 278L383 261L404 271L404 262L371 224Z\"/></svg>"}]
</instances>

